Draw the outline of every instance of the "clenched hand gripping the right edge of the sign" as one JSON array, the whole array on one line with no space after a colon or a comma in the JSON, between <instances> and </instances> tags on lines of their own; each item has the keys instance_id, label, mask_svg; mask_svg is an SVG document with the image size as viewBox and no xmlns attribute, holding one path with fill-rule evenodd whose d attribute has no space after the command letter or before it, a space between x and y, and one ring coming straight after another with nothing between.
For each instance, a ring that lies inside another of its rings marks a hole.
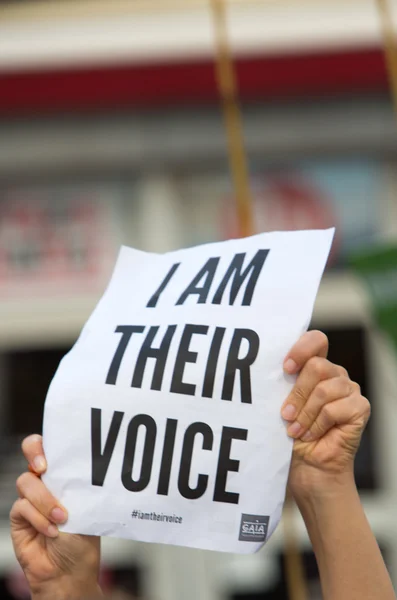
<instances>
[{"instance_id":1,"label":"clenched hand gripping the right edge of the sign","mask_svg":"<svg viewBox=\"0 0 397 600\"><path fill-rule=\"evenodd\" d=\"M328 347L323 333L310 331L284 363L286 373L299 373L282 408L295 439L289 488L296 499L354 482L354 458L371 414L360 386L327 360Z\"/></svg>"}]
</instances>

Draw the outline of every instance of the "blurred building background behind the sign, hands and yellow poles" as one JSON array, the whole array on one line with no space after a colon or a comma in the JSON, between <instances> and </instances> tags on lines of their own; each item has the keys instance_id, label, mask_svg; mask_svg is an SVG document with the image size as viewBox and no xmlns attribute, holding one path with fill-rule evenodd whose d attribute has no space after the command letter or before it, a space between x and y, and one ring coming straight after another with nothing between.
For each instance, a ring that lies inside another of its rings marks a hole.
<instances>
[{"instance_id":1,"label":"blurred building background behind the sign, hands and yellow poles","mask_svg":"<svg viewBox=\"0 0 397 600\"><path fill-rule=\"evenodd\" d=\"M397 120L377 5L227 4L257 231L337 227L312 326L373 406L356 476L397 585ZM8 530L20 441L120 244L237 232L208 1L0 2L1 599L29 597ZM103 558L120 599L288 597L281 528L252 557L106 539Z\"/></svg>"}]
</instances>

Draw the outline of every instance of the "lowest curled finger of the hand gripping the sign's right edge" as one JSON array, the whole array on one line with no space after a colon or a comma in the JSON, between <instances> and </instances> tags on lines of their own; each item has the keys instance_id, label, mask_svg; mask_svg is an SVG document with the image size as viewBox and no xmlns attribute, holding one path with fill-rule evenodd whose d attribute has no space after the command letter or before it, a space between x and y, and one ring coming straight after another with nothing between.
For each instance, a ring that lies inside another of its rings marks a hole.
<instances>
[{"instance_id":1,"label":"lowest curled finger of the hand gripping the sign's right edge","mask_svg":"<svg viewBox=\"0 0 397 600\"><path fill-rule=\"evenodd\" d=\"M304 442L319 440L335 426L351 423L364 430L371 415L371 405L360 393L341 398L323 406L311 429L302 437Z\"/></svg>"}]
</instances>

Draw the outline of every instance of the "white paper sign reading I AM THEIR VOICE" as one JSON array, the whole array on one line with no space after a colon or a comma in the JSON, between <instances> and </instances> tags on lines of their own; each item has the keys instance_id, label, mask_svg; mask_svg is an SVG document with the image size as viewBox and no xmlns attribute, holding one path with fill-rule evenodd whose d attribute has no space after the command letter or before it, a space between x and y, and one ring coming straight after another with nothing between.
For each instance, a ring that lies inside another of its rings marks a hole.
<instances>
[{"instance_id":1,"label":"white paper sign reading I AM THEIR VOICE","mask_svg":"<svg viewBox=\"0 0 397 600\"><path fill-rule=\"evenodd\" d=\"M248 554L276 528L292 441L283 361L334 230L164 255L122 248L45 406L63 531Z\"/></svg>"}]
</instances>

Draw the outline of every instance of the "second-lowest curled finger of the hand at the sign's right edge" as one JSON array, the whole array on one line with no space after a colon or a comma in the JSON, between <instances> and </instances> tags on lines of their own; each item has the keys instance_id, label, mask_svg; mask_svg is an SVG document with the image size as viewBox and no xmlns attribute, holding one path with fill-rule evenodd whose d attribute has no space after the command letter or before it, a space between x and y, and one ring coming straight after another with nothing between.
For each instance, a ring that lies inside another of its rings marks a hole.
<instances>
[{"instance_id":1,"label":"second-lowest curled finger of the hand at the sign's right edge","mask_svg":"<svg viewBox=\"0 0 397 600\"><path fill-rule=\"evenodd\" d=\"M326 404L340 398L349 397L356 391L357 387L359 386L356 383L345 376L320 381L310 394L306 404L301 408L296 421L289 426L288 435L301 438L312 427Z\"/></svg>"}]
</instances>

